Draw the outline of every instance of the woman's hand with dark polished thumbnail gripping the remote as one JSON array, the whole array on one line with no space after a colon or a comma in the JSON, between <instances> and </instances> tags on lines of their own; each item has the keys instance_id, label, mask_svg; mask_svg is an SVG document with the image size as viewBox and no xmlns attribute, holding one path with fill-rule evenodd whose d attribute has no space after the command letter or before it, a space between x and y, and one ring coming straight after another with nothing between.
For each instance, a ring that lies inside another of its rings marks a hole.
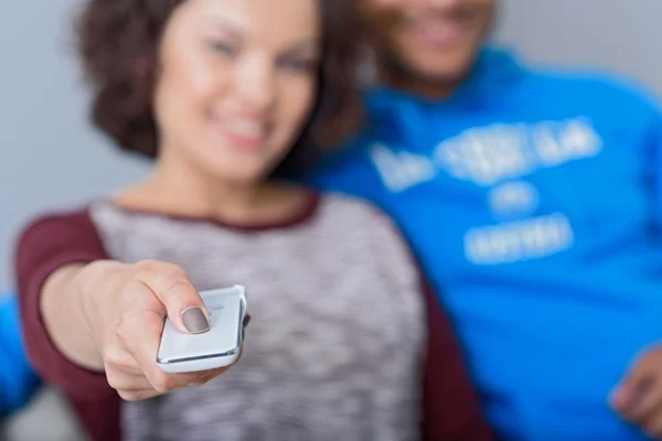
<instances>
[{"instance_id":1,"label":"woman's hand with dark polished thumbnail gripping the remote","mask_svg":"<svg viewBox=\"0 0 662 441\"><path fill-rule=\"evenodd\" d=\"M140 400L202 385L227 370L168 374L157 365L166 316L182 332L210 327L200 294L182 268L160 261L98 261L77 277L84 320L108 384L121 398Z\"/></svg>"}]
</instances>

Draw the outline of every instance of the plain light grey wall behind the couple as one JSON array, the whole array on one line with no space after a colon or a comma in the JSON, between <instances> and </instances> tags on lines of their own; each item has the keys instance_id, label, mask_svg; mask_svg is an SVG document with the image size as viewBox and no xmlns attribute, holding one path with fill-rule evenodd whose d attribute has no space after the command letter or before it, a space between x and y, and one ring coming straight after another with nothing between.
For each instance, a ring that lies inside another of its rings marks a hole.
<instances>
[{"instance_id":1,"label":"plain light grey wall behind the couple","mask_svg":"<svg viewBox=\"0 0 662 441\"><path fill-rule=\"evenodd\" d=\"M662 97L662 1L502 0L495 40L545 64L602 66ZM0 290L23 223L139 179L86 121L72 44L79 0L0 4Z\"/></svg>"}]
</instances>

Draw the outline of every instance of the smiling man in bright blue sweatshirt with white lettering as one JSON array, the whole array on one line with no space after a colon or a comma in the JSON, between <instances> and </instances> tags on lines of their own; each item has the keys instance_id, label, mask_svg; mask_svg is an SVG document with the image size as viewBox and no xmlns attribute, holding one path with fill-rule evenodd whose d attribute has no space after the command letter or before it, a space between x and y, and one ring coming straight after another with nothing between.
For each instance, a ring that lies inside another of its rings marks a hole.
<instances>
[{"instance_id":1,"label":"smiling man in bright blue sweatshirt with white lettering","mask_svg":"<svg viewBox=\"0 0 662 441\"><path fill-rule=\"evenodd\" d=\"M494 3L363 0L370 123L311 180L397 220L504 440L661 437L662 118L482 49Z\"/></svg>"}]
</instances>

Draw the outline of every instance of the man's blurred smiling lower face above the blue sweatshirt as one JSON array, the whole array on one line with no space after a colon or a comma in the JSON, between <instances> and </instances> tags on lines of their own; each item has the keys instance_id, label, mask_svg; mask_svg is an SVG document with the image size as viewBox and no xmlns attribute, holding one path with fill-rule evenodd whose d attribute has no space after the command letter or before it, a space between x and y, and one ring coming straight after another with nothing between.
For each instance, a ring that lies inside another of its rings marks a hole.
<instances>
[{"instance_id":1,"label":"man's blurred smiling lower face above the blue sweatshirt","mask_svg":"<svg viewBox=\"0 0 662 441\"><path fill-rule=\"evenodd\" d=\"M406 74L456 83L490 30L496 0L361 0L378 47Z\"/></svg>"}]
</instances>

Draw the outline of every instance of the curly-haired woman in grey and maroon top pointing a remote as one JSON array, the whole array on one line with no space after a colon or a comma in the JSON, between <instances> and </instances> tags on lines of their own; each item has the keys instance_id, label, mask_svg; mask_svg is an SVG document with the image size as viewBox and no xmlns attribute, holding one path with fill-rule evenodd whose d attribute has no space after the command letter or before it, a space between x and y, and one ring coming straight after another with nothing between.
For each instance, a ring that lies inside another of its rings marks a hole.
<instances>
[{"instance_id":1,"label":"curly-haired woman in grey and maroon top pointing a remote","mask_svg":"<svg viewBox=\"0 0 662 441\"><path fill-rule=\"evenodd\" d=\"M156 168L33 223L18 280L32 362L95 439L405 440L423 419L426 439L489 437L391 223L274 178L356 120L353 17L339 0L89 2L95 122ZM164 318L205 332L197 290L234 283L254 319L241 365L161 372Z\"/></svg>"}]
</instances>

